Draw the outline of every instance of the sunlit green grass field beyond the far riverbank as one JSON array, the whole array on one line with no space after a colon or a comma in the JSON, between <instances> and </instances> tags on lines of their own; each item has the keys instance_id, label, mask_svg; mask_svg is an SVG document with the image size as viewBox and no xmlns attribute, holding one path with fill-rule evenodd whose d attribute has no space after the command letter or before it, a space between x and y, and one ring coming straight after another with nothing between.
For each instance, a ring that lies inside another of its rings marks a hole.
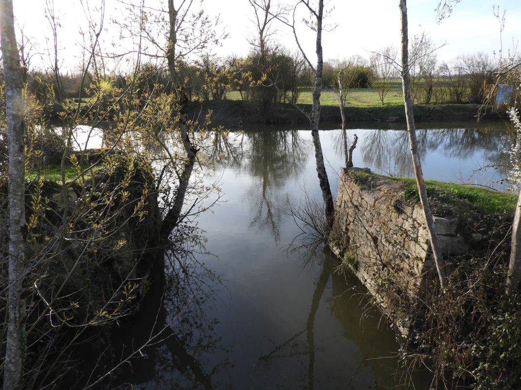
<instances>
[{"instance_id":1,"label":"sunlit green grass field beyond the far riverbank","mask_svg":"<svg viewBox=\"0 0 521 390\"><path fill-rule=\"evenodd\" d=\"M241 100L241 95L237 91L229 91L226 94L228 100ZM311 88L302 88L298 103L312 104L313 93ZM384 99L385 106L403 105L402 89L399 85L393 85ZM322 106L337 107L340 104L338 89L322 89L320 94L320 104ZM345 102L345 107L381 107L380 97L376 88L355 88L350 89Z\"/></svg>"}]
</instances>

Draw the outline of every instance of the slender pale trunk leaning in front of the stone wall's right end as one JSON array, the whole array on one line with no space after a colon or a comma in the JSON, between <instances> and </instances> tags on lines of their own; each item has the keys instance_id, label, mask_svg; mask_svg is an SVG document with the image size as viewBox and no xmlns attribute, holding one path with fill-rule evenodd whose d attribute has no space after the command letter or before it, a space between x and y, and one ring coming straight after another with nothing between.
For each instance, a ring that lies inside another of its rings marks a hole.
<instances>
[{"instance_id":1,"label":"slender pale trunk leaning in front of the stone wall's right end","mask_svg":"<svg viewBox=\"0 0 521 390\"><path fill-rule=\"evenodd\" d=\"M440 279L441 288L445 287L445 270L443 259L439 250L438 238L434 227L434 219L430 211L429 199L427 198L427 190L421 173L421 164L418 155L418 145L416 142L416 126L414 124L413 100L411 98L411 74L409 73L410 64L408 63L408 32L407 32L407 4L406 0L400 0L401 22L402 22L402 88L405 104L405 117L407 119L407 133L411 146L411 155L413 159L414 176L416 178L416 186L420 196L421 207L423 208L427 231L429 235L438 277Z\"/></svg>"}]
</instances>

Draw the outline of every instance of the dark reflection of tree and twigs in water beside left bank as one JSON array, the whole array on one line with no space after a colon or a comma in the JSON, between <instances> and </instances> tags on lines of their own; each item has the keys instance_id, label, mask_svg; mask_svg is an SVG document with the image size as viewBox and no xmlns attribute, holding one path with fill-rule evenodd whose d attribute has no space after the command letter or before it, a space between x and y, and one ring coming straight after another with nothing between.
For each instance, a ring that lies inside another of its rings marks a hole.
<instances>
[{"instance_id":1,"label":"dark reflection of tree and twigs in water beside left bank","mask_svg":"<svg viewBox=\"0 0 521 390\"><path fill-rule=\"evenodd\" d=\"M125 388L123 383L132 384L133 389L227 386L214 379L217 373L219 378L227 377L230 362L228 350L215 333L219 321L208 315L217 299L215 286L222 284L212 270L197 261L203 243L201 231L181 226L172 236L172 247L157 259L154 281L139 315L118 330L120 336L127 335L122 336L125 348L121 356L153 339L139 357L124 366L120 388Z\"/></svg>"}]
</instances>

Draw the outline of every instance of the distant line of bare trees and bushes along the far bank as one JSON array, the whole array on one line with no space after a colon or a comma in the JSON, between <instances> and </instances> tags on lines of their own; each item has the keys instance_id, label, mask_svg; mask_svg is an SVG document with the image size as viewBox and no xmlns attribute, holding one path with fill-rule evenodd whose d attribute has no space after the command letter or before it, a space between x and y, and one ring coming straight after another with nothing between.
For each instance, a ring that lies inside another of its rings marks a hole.
<instances>
[{"instance_id":1,"label":"distant line of bare trees and bushes along the far bank","mask_svg":"<svg viewBox=\"0 0 521 390\"><path fill-rule=\"evenodd\" d=\"M387 48L386 53L390 53ZM495 93L496 67L487 54L462 55L450 62L438 62L430 47L416 49L417 59L411 69L412 93L417 104L483 103ZM422 54L422 50L425 52ZM338 88L338 77L344 88L400 88L400 74L391 67L384 71L377 55L367 60L352 56L324 63L322 88ZM184 91L191 101L223 100L235 91L251 108L269 114L281 102L299 102L301 91L311 86L313 71L299 51L280 46L253 49L249 56L220 58L206 55L199 61L183 63L177 72L185 80ZM131 80L132 79L132 80ZM172 89L166 64L144 63L139 74L109 74L103 77L110 88L133 88L143 92L161 88ZM40 103L49 115L55 115L64 105L88 105L100 85L100 76L83 72L68 72L55 77L54 72L30 70L24 73L27 96ZM508 81L505 81L508 82Z\"/></svg>"}]
</instances>

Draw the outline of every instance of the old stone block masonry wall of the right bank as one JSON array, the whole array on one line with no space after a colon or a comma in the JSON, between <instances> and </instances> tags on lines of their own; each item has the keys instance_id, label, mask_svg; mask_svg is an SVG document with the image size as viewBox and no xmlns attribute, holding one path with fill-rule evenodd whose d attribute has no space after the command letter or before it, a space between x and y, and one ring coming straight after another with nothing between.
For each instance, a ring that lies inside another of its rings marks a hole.
<instances>
[{"instance_id":1,"label":"old stone block masonry wall of the right bank","mask_svg":"<svg viewBox=\"0 0 521 390\"><path fill-rule=\"evenodd\" d=\"M421 205L407 205L404 189L401 181L381 176L354 179L343 168L330 239L331 249L402 331L405 320L390 311L403 304L392 301L421 296L436 278ZM470 243L458 235L458 219L435 216L435 226L443 254L467 251Z\"/></svg>"}]
</instances>

